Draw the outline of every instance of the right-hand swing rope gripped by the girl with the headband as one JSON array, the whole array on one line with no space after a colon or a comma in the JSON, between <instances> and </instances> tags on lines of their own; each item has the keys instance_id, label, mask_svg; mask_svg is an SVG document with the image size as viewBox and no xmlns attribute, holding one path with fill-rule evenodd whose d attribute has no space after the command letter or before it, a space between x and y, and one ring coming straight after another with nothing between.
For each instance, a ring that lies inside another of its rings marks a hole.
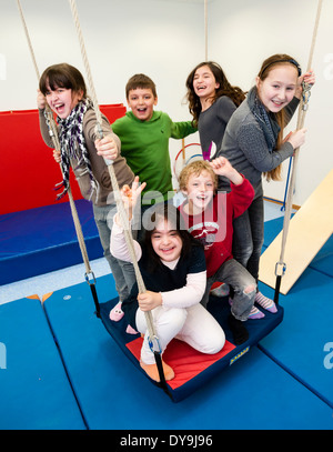
<instances>
[{"instance_id":1,"label":"right-hand swing rope gripped by the girl with the headband","mask_svg":"<svg viewBox=\"0 0 333 452\"><path fill-rule=\"evenodd\" d=\"M323 4L323 0L319 0L306 72L310 71L310 69L312 68L312 60L313 60L314 47L315 47L315 42L316 42L322 4ZM309 107L307 102L310 99L310 90L311 90L311 86L307 83L303 83L303 96L302 96L300 107L299 107L299 118L297 118L297 125L296 125L297 130L302 129L304 125L305 115L306 115L307 107ZM286 195L285 213L284 213L283 230L282 230L281 253L280 253L279 262L276 263L276 267L275 267L275 274L276 274L276 287L275 287L275 295L274 295L275 302L278 302L278 299L279 299L281 277L283 277L283 274L285 272L285 268L286 268L286 265L284 263L284 253L285 253L285 244L286 244L286 238L287 238L290 220L291 220L292 200L293 200L293 192L294 192L294 188L295 188L295 178L296 178L295 174L296 174L296 168L297 168L297 162L299 162L299 153L300 153L300 148L295 149L295 152L294 152L292 174L291 174L290 187L289 187L289 191L287 191L287 195ZM280 274L279 274L279 265L280 265L280 268L282 268L282 271L280 271Z\"/></svg>"}]
</instances>

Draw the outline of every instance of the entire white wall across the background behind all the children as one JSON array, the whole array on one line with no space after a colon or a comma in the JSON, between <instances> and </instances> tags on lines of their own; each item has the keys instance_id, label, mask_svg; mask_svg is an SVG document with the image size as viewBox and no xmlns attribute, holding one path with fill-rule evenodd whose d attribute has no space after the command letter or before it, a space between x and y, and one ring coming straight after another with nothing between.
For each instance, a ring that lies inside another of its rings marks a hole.
<instances>
[{"instance_id":1,"label":"entire white wall across the background behind all the children","mask_svg":"<svg viewBox=\"0 0 333 452\"><path fill-rule=\"evenodd\" d=\"M272 53L291 53L305 68L316 4L315 0L209 1L209 58L244 90ZM39 71L67 61L85 74L69 2L21 0L21 6ZM203 0L77 0L77 6L100 103L125 104L127 80L144 72L157 83L158 108L173 120L191 119L182 101L189 72L204 60ZM299 159L295 204L302 204L333 167L332 18L333 1L324 0L313 61L317 82L305 120L309 132ZM0 0L0 111L34 109L37 86L17 2ZM198 134L186 139L186 143L195 141ZM170 141L172 159L180 148L180 141ZM284 185L265 183L265 194L282 200Z\"/></svg>"}]
</instances>

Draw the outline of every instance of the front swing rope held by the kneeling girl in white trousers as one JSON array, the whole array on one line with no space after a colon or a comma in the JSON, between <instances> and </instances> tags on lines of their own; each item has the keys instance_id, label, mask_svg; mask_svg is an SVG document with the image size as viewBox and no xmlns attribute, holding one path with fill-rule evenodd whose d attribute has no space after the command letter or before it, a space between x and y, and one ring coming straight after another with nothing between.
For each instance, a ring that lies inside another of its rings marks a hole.
<instances>
[{"instance_id":1,"label":"front swing rope held by the kneeling girl in white trousers","mask_svg":"<svg viewBox=\"0 0 333 452\"><path fill-rule=\"evenodd\" d=\"M97 113L97 128L99 130L99 134L100 138L103 137L102 134L102 128L101 128L101 121L102 121L102 115L99 109L99 103L97 100L97 94L95 94L95 90L94 90L94 86L93 86L93 81L92 81L92 77L91 77L91 70L90 70L90 66L89 66L89 61L88 61L88 57L87 57L87 51L85 51L85 47L84 47L84 41L83 41L83 36L81 32L81 26L80 26L80 21L79 21L79 14L78 14L78 9L77 9L77 4L74 0L69 0L70 2L70 7L71 7L71 11L72 11L72 16L73 16L73 20L74 20L74 24L75 24L75 29L78 32L78 37L79 37L79 42L80 42L80 48L81 48L81 53L82 53L82 59L83 59L83 64L88 74L88 81L89 81L89 87L90 87L90 92L91 92L91 99L94 106L94 111ZM108 169L109 169L109 173L110 173L110 178L111 178L111 183L113 187L113 193L115 197L115 202L117 202L117 208L118 208L118 212L119 212L119 217L121 220L121 224L123 227L124 230L124 238L127 241L127 245L129 249L129 252L131 254L131 260L134 267L134 272L135 272L135 278L137 278L137 282L138 282L138 287L139 287L139 292L143 293L145 292L145 287L144 287L144 282L139 269L139 264L137 261L137 257L135 257L135 252L134 252L134 244L133 244L133 238L131 234L131 231L129 229L129 218L128 214L125 212L121 195L120 195L120 190L119 190L119 184L115 178L115 173L114 173L114 168L111 161L105 160L105 163L108 164ZM149 335L151 340L157 340L157 334L154 332L154 325L153 325L153 319L152 319L152 314L150 311L145 311L144 312L145 315L145 321L147 321L147 327L148 327L148 331L149 331ZM154 344L157 345L157 344ZM159 348L159 345L158 345ZM161 379L162 380L162 379Z\"/></svg>"}]
</instances>

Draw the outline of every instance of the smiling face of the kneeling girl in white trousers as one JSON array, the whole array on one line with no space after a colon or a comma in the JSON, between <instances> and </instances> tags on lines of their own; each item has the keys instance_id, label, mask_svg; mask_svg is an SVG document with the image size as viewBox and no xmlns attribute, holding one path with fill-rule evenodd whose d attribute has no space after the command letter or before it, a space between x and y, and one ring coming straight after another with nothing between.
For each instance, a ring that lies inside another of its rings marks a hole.
<instances>
[{"instance_id":1,"label":"smiling face of the kneeling girl in white trousers","mask_svg":"<svg viewBox=\"0 0 333 452\"><path fill-rule=\"evenodd\" d=\"M179 259L182 251L180 234L165 219L161 220L152 232L151 244L158 257L165 262Z\"/></svg>"}]
</instances>

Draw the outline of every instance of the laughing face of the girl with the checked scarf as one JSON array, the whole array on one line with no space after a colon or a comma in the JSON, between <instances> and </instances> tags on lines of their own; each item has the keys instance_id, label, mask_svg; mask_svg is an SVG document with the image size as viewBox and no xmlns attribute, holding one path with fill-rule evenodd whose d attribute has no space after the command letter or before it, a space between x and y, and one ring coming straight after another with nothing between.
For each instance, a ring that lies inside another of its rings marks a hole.
<instances>
[{"instance_id":1,"label":"laughing face of the girl with the checked scarf","mask_svg":"<svg viewBox=\"0 0 333 452\"><path fill-rule=\"evenodd\" d=\"M79 103L82 97L82 91L74 92L71 89L60 87L54 87L54 90L51 90L49 84L47 84L47 102L61 119L69 117L72 109Z\"/></svg>"}]
</instances>

